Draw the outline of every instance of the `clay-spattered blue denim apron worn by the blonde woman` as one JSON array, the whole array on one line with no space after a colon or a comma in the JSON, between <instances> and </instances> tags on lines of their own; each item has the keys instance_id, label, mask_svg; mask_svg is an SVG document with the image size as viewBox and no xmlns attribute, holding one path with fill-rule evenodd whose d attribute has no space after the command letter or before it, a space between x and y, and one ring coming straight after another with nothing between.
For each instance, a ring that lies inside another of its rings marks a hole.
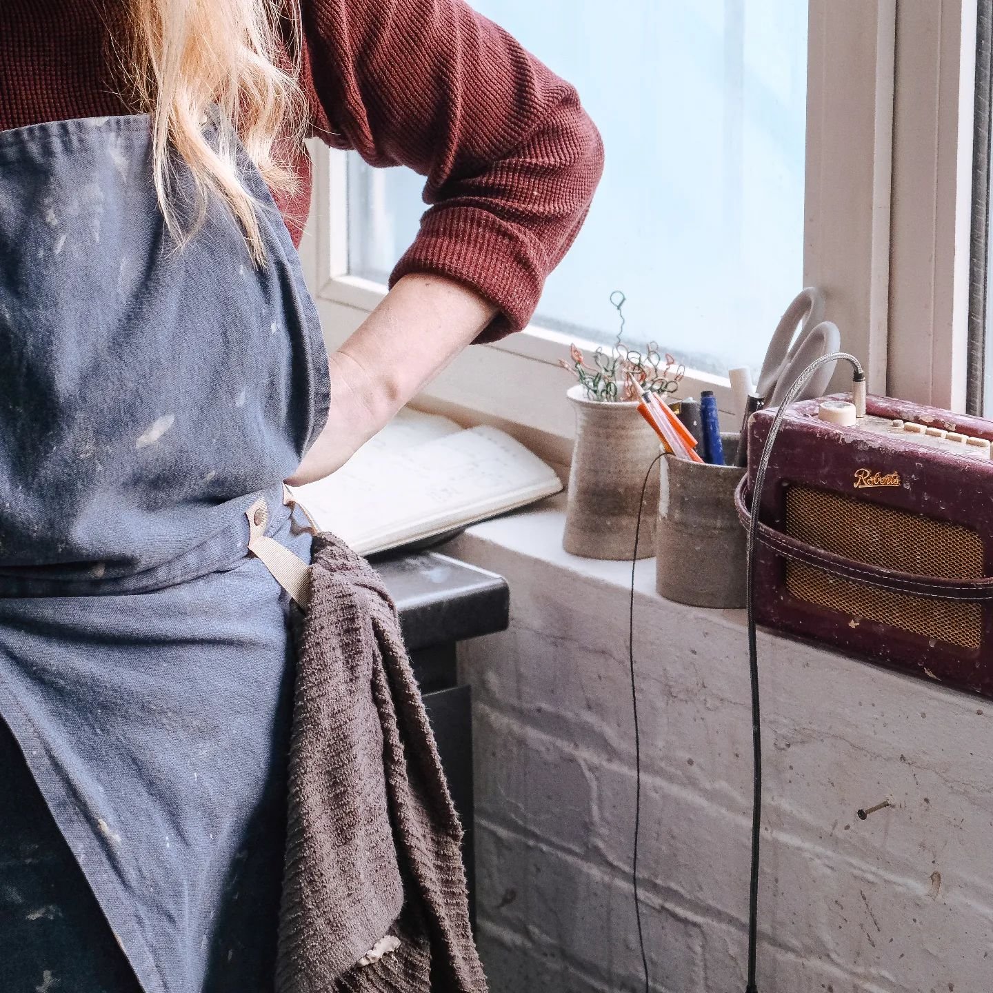
<instances>
[{"instance_id":1,"label":"clay-spattered blue denim apron worn by the blonde woman","mask_svg":"<svg viewBox=\"0 0 993 993\"><path fill-rule=\"evenodd\" d=\"M177 248L147 117L0 132L3 993L272 988L289 601L244 511L309 560L282 481L329 383L242 172L262 268L219 203Z\"/></svg>"}]
</instances>

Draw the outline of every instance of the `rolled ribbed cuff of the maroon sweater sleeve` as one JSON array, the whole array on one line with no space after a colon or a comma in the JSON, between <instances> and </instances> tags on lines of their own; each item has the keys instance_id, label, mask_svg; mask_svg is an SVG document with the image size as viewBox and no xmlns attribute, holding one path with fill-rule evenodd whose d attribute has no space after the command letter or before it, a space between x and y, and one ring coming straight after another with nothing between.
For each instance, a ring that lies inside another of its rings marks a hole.
<instances>
[{"instance_id":1,"label":"rolled ribbed cuff of the maroon sweater sleeve","mask_svg":"<svg viewBox=\"0 0 993 993\"><path fill-rule=\"evenodd\" d=\"M477 338L496 342L527 327L546 274L543 252L519 224L476 207L435 208L424 215L414 243L389 277L431 272L464 283L500 313Z\"/></svg>"}]
</instances>

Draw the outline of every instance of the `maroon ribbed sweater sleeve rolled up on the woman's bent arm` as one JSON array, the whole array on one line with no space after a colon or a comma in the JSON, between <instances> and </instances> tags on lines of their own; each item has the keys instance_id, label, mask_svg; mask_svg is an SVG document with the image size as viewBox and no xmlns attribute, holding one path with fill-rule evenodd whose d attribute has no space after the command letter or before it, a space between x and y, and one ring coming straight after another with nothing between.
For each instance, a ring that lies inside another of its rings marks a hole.
<instances>
[{"instance_id":1,"label":"maroon ribbed sweater sleeve rolled up on the woman's bent arm","mask_svg":"<svg viewBox=\"0 0 993 993\"><path fill-rule=\"evenodd\" d=\"M526 326L603 170L576 90L463 0L305 0L315 133L426 177L430 205L390 277L459 280Z\"/></svg>"}]
</instances>

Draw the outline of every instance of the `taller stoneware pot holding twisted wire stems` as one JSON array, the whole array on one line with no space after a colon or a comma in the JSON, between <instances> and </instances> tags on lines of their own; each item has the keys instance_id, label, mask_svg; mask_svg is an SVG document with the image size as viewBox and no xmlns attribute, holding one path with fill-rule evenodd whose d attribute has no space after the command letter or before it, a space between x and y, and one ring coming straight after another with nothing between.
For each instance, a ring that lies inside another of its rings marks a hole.
<instances>
[{"instance_id":1,"label":"taller stoneware pot holding twisted wire stems","mask_svg":"<svg viewBox=\"0 0 993 993\"><path fill-rule=\"evenodd\" d=\"M590 400L579 383L566 395L576 411L576 443L562 546L585 558L630 559L641 486L658 455L658 438L634 401ZM655 554L657 502L655 467L644 495L638 558Z\"/></svg>"}]
</instances>

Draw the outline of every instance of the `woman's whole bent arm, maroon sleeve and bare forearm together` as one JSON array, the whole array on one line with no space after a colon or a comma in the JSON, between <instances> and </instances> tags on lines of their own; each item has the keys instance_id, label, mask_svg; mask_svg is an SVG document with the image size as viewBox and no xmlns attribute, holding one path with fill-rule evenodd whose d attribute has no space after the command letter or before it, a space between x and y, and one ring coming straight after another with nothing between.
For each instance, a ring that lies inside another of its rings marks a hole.
<instances>
[{"instance_id":1,"label":"woman's whole bent arm, maroon sleeve and bare forearm together","mask_svg":"<svg viewBox=\"0 0 993 993\"><path fill-rule=\"evenodd\" d=\"M524 328L603 170L575 89L465 0L301 0L314 132L426 177L392 290L331 357L290 482L334 472L473 341Z\"/></svg>"}]
</instances>

